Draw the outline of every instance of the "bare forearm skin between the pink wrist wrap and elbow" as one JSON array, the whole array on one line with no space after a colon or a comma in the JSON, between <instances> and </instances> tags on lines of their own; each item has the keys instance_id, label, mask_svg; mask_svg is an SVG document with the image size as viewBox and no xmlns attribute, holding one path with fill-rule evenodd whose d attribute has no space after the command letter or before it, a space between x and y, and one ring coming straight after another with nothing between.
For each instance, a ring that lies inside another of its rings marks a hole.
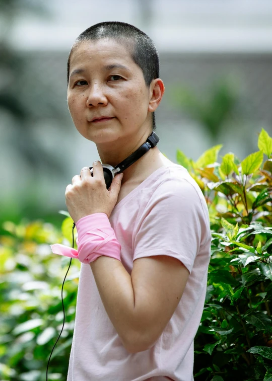
<instances>
[{"instance_id":1,"label":"bare forearm skin between the pink wrist wrap and elbow","mask_svg":"<svg viewBox=\"0 0 272 381\"><path fill-rule=\"evenodd\" d=\"M90 266L105 310L124 347L128 351L140 351L144 345L142 322L137 318L131 276L119 260L106 256Z\"/></svg>"}]
</instances>

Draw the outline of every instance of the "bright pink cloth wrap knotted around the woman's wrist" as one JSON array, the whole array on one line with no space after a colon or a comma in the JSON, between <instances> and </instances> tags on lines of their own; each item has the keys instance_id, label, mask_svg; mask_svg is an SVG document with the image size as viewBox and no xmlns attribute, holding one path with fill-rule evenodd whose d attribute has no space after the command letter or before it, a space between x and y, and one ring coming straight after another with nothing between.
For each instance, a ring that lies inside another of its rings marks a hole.
<instances>
[{"instance_id":1,"label":"bright pink cloth wrap knotted around the woman's wrist","mask_svg":"<svg viewBox=\"0 0 272 381\"><path fill-rule=\"evenodd\" d=\"M51 245L54 254L78 258L82 263L91 263L101 255L118 259L121 256L121 245L106 213L86 215L76 223L78 250L61 244Z\"/></svg>"}]
</instances>

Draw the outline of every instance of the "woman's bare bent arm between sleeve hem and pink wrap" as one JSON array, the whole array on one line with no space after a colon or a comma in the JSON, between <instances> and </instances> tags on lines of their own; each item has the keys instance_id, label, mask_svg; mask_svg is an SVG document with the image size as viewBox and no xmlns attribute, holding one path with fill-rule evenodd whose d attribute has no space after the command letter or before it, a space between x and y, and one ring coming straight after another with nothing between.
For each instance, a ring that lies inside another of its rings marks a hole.
<instances>
[{"instance_id":1,"label":"woman's bare bent arm between sleeve hem and pink wrap","mask_svg":"<svg viewBox=\"0 0 272 381\"><path fill-rule=\"evenodd\" d=\"M189 271L169 256L122 263L102 256L90 263L105 310L126 350L149 349L162 334L184 291Z\"/></svg>"}]
</instances>

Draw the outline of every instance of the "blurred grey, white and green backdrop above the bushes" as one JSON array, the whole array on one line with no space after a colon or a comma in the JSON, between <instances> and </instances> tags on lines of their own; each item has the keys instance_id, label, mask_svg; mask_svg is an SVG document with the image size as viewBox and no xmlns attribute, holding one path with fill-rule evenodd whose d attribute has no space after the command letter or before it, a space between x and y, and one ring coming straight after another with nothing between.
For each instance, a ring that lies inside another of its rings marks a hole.
<instances>
[{"instance_id":1,"label":"blurred grey, white and green backdrop above the bushes","mask_svg":"<svg viewBox=\"0 0 272 381\"><path fill-rule=\"evenodd\" d=\"M98 158L66 104L66 61L77 36L102 21L154 40L165 97L159 148L196 160L223 143L240 159L272 130L270 0L9 0L0 2L0 222L56 223L64 191Z\"/></svg>"}]
</instances>

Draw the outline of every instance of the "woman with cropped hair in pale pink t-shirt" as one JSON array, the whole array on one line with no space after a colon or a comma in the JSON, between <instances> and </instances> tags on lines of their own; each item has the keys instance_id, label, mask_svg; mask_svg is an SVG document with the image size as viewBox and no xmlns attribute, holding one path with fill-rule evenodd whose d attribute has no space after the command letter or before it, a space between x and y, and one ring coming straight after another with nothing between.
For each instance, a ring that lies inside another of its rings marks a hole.
<instances>
[{"instance_id":1,"label":"woman with cropped hair in pale pink t-shirt","mask_svg":"<svg viewBox=\"0 0 272 381\"><path fill-rule=\"evenodd\" d=\"M67 67L74 124L115 167L155 129L157 50L139 29L105 22L78 37ZM82 262L67 380L192 381L210 261L205 198L157 146L109 189L101 162L65 192Z\"/></svg>"}]
</instances>

